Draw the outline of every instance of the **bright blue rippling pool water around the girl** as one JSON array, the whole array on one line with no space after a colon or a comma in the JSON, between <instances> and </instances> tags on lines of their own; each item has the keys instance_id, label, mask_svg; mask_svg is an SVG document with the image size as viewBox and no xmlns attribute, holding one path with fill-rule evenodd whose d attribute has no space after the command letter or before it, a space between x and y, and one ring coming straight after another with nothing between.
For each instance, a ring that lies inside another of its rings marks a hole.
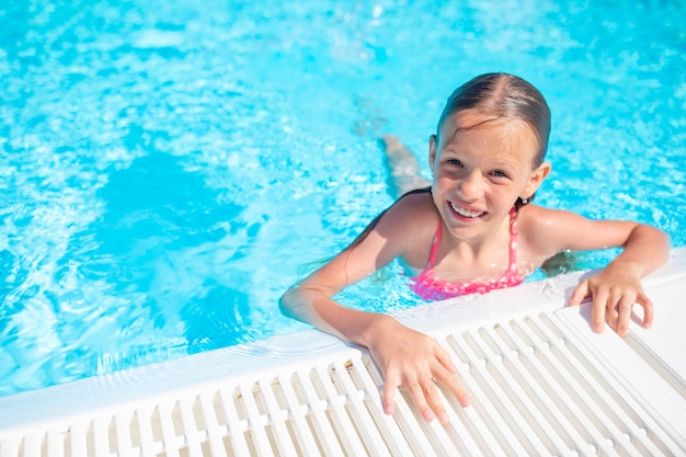
<instances>
[{"instance_id":1,"label":"bright blue rippling pool water around the girl","mask_svg":"<svg viewBox=\"0 0 686 457\"><path fill-rule=\"evenodd\" d=\"M378 135L424 163L445 99L485 71L549 101L538 203L686 244L684 16L671 1L2 2L0 395L305 328L281 294L392 202ZM341 299L416 305L397 270Z\"/></svg>"}]
</instances>

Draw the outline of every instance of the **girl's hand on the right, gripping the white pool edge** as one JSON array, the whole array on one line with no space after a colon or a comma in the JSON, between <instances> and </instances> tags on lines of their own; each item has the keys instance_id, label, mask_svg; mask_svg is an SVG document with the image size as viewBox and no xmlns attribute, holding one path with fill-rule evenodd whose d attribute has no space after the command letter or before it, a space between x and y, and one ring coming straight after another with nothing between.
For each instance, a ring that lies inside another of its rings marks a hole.
<instances>
[{"instance_id":1,"label":"girl's hand on the right, gripping the white pool edge","mask_svg":"<svg viewBox=\"0 0 686 457\"><path fill-rule=\"evenodd\" d=\"M642 327L649 329L653 321L653 302L645 296L638 275L619 265L608 265L603 272L581 282L572 293L570 306L580 305L584 298L593 298L591 324L601 333L605 322L617 334L625 336L633 305L643 307Z\"/></svg>"}]
</instances>

